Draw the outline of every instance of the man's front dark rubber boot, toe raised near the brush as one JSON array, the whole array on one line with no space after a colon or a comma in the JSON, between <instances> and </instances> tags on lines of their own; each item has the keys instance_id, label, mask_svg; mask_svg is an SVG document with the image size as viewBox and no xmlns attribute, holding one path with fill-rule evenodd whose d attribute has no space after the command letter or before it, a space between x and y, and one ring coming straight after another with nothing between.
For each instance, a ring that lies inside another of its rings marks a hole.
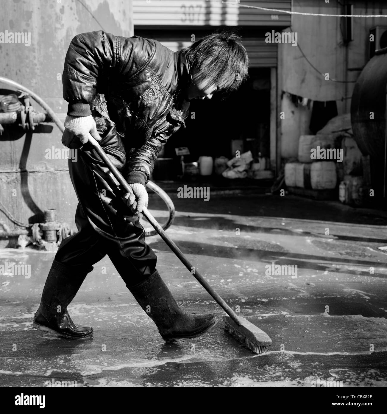
<instances>
[{"instance_id":1,"label":"man's front dark rubber boot, toe raised near the brush","mask_svg":"<svg viewBox=\"0 0 387 414\"><path fill-rule=\"evenodd\" d=\"M163 339L194 338L204 334L218 322L214 313L184 313L157 270L144 282L127 288L157 325Z\"/></svg>"}]
</instances>

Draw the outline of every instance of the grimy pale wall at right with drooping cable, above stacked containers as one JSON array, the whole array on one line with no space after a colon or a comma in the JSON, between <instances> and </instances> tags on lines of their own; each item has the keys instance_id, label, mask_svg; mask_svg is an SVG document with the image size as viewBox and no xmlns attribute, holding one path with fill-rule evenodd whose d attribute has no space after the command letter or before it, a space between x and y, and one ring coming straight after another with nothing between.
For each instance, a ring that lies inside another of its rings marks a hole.
<instances>
[{"instance_id":1,"label":"grimy pale wall at right with drooping cable, above stacked containers","mask_svg":"<svg viewBox=\"0 0 387 414\"><path fill-rule=\"evenodd\" d=\"M353 14L387 14L387 3L353 0ZM293 2L293 11L305 13L342 14L336 0L316 2L299 0ZM345 46L342 43L341 19L339 17L292 15L291 29L297 32L298 45L310 62L322 73L342 81L356 81L361 68L368 61L369 30L374 26L386 26L386 18L353 19L353 41ZM332 101L350 97L354 83L327 81L303 58L300 49L291 44L279 43L279 76L284 91L315 101ZM351 70L352 69L352 70ZM353 70L355 69L355 70ZM337 101L339 115L348 113L351 99ZM304 107L296 108L289 103L286 95L281 101L285 119L281 120L279 137L281 157L288 159L297 156L298 138L308 133L312 111Z\"/></svg>"}]
</instances>

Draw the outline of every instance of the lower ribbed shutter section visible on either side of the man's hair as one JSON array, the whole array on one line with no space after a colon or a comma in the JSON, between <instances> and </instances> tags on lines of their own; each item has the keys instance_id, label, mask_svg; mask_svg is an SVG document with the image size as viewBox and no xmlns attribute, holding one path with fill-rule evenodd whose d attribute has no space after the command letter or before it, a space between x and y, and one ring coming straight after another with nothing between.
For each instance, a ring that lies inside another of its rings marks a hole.
<instances>
[{"instance_id":1,"label":"lower ribbed shutter section visible on either side of the man's hair","mask_svg":"<svg viewBox=\"0 0 387 414\"><path fill-rule=\"evenodd\" d=\"M137 33L136 33L137 34ZM157 39L164 46L176 52L190 46L192 43L181 41L182 37L173 39ZM243 38L243 44L250 59L250 67L276 67L277 66L277 45L265 43L264 39Z\"/></svg>"}]
</instances>

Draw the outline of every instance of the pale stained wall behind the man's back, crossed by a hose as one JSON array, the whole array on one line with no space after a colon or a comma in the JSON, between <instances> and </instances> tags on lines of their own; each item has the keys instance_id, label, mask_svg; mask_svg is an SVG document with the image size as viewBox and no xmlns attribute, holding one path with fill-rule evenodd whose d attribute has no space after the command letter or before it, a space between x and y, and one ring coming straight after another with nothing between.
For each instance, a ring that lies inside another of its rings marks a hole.
<instances>
[{"instance_id":1,"label":"pale stained wall behind the man's back, crossed by a hose","mask_svg":"<svg viewBox=\"0 0 387 414\"><path fill-rule=\"evenodd\" d=\"M79 33L101 30L101 26L119 36L134 34L131 0L82 3L86 8L77 0L13 0L3 4L0 13L0 32L31 34L30 46L0 43L0 75L41 96L62 122L67 103L62 98L61 75L71 39ZM9 89L3 84L0 88ZM31 103L35 110L41 110L37 103ZM63 148L61 133L55 125L47 129L52 132L0 137L0 200L23 223L34 222L44 209L55 208L58 220L75 228L77 199L67 160L46 159L46 149ZM11 230L18 228L1 211L0 220Z\"/></svg>"}]
</instances>

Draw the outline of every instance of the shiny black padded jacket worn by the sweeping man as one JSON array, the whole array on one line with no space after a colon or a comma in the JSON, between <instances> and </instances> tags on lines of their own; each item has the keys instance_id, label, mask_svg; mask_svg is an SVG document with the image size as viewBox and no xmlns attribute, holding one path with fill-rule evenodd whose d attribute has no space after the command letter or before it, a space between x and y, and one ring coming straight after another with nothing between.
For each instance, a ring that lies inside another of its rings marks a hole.
<instances>
[{"instance_id":1,"label":"shiny black padded jacket worn by the sweeping man","mask_svg":"<svg viewBox=\"0 0 387 414\"><path fill-rule=\"evenodd\" d=\"M185 128L190 106L185 92L190 82L184 51L104 31L72 39L62 76L67 115L88 116L95 109L103 114L122 138L111 150L124 145L125 153L120 153L126 180L142 184L149 181L166 140L182 125ZM106 111L96 104L102 95Z\"/></svg>"}]
</instances>

